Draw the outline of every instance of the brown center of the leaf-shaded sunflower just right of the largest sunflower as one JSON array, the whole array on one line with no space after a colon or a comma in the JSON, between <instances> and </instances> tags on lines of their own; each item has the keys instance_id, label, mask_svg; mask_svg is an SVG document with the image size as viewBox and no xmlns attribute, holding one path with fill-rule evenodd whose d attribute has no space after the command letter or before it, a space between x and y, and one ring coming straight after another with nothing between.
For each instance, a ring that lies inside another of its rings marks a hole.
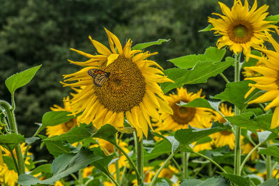
<instances>
[{"instance_id":1,"label":"brown center of the leaf-shaded sunflower just right of the largest sunflower","mask_svg":"<svg viewBox=\"0 0 279 186\"><path fill-rule=\"evenodd\" d=\"M188 102L188 100L181 100L183 102ZM172 115L172 118L176 123L179 123L179 125L186 125L190 121L193 120L195 117L196 109L194 107L179 107L175 102L172 104L172 110L174 111L174 114Z\"/></svg>"}]
</instances>

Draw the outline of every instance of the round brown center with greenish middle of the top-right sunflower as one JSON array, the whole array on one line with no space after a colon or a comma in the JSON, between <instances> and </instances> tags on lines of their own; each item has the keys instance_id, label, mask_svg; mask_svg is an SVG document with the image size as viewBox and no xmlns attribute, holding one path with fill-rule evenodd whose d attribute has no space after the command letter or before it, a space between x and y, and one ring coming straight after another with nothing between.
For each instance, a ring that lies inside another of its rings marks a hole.
<instances>
[{"instance_id":1,"label":"round brown center with greenish middle of the top-right sunflower","mask_svg":"<svg viewBox=\"0 0 279 186\"><path fill-rule=\"evenodd\" d=\"M252 25L248 22L238 21L229 26L229 39L236 43L249 42L253 36Z\"/></svg>"}]
</instances>

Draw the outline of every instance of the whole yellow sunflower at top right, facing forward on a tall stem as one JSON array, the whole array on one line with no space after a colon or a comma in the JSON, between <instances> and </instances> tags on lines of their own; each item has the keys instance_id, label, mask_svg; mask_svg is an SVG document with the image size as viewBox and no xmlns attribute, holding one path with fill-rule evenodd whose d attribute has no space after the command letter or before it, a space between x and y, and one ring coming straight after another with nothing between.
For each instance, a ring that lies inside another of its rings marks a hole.
<instances>
[{"instance_id":1,"label":"whole yellow sunflower at top right, facing forward on a tall stem","mask_svg":"<svg viewBox=\"0 0 279 186\"><path fill-rule=\"evenodd\" d=\"M247 56L251 52L250 47L260 47L266 40L263 31L276 28L272 22L264 20L269 14L266 13L269 6L264 5L257 9L257 0L250 10L247 0L244 5L241 0L234 0L231 10L224 3L219 2L219 5L224 15L213 13L220 18L209 17L209 22L213 25L211 30L222 36L217 41L219 49L227 45L234 54L243 52Z\"/></svg>"}]
</instances>

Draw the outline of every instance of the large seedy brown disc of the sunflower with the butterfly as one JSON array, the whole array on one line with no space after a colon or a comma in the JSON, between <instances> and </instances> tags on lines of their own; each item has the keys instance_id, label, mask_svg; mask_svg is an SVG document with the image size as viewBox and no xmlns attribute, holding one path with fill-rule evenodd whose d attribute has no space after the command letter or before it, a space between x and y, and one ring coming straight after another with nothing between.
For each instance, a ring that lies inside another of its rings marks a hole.
<instances>
[{"instance_id":1,"label":"large seedy brown disc of the sunflower with the butterfly","mask_svg":"<svg viewBox=\"0 0 279 186\"><path fill-rule=\"evenodd\" d=\"M131 59L119 57L103 69L110 77L95 93L105 108L114 112L129 111L142 102L146 91L142 72Z\"/></svg>"}]
</instances>

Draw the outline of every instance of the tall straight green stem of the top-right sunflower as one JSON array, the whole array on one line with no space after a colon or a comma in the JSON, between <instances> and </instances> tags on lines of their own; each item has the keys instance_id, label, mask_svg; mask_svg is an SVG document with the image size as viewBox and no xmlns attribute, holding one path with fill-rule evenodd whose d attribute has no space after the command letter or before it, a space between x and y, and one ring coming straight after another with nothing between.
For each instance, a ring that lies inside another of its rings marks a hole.
<instances>
[{"instance_id":1,"label":"tall straight green stem of the top-right sunflower","mask_svg":"<svg viewBox=\"0 0 279 186\"><path fill-rule=\"evenodd\" d=\"M240 59L241 53L235 55L234 63L234 82L240 81ZM234 115L238 116L240 114L240 109L234 105ZM241 166L241 127L235 127L235 148L234 148L234 174L236 176L241 176L240 166Z\"/></svg>"}]
</instances>

